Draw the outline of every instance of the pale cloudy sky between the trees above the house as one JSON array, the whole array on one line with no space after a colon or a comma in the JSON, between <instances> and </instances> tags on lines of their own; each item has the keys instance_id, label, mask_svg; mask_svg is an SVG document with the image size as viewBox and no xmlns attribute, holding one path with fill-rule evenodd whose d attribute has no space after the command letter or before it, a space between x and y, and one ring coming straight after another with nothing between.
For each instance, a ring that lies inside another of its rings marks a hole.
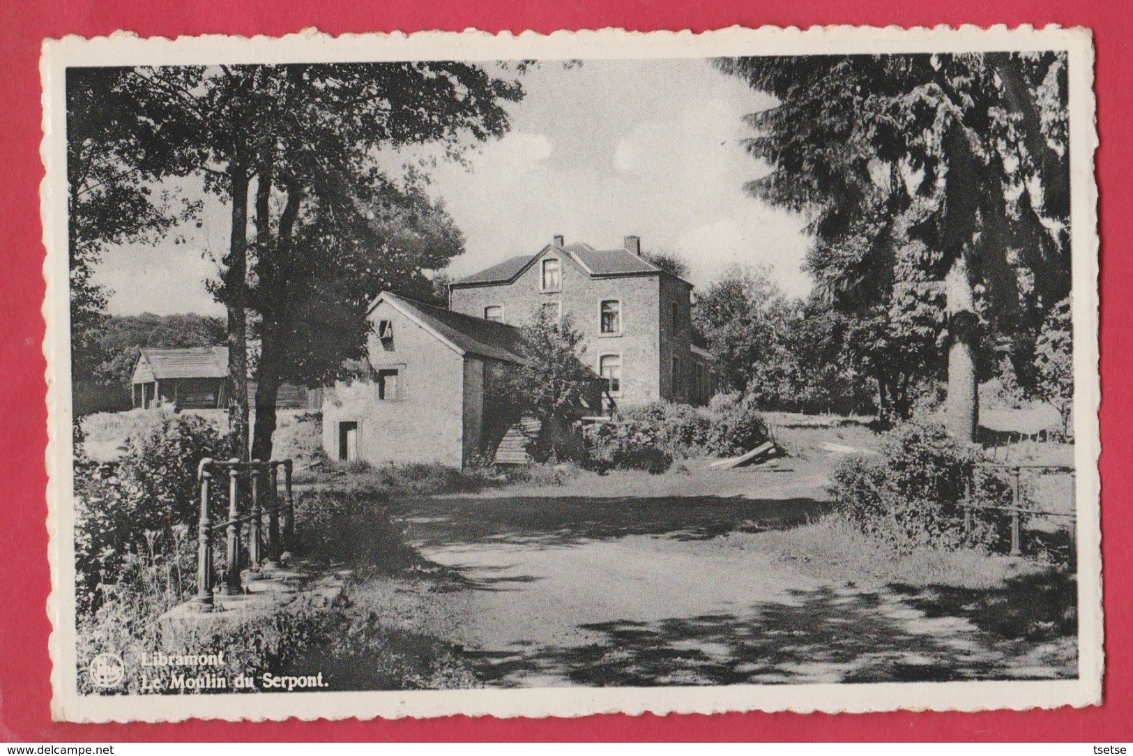
<instances>
[{"instance_id":1,"label":"pale cloudy sky between the trees above the house","mask_svg":"<svg viewBox=\"0 0 1133 756\"><path fill-rule=\"evenodd\" d=\"M598 248L636 233L646 249L676 252L692 282L732 264L764 265L804 294L802 220L751 198L764 168L743 152L741 118L768 99L702 60L550 63L523 77L512 130L471 155L471 170L441 164L431 190L465 232L466 275L556 233ZM406 156L408 158L408 155ZM97 271L116 314L221 314L204 287L228 241L225 209L211 201L181 244L108 250Z\"/></svg>"}]
</instances>

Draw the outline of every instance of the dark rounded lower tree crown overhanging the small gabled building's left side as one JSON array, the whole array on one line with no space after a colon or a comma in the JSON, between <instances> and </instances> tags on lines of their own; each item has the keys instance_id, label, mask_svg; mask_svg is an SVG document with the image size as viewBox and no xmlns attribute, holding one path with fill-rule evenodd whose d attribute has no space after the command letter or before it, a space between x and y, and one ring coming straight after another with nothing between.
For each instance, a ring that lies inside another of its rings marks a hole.
<instances>
[{"instance_id":1,"label":"dark rounded lower tree crown overhanging the small gabled building's left side","mask_svg":"<svg viewBox=\"0 0 1133 756\"><path fill-rule=\"evenodd\" d=\"M356 185L356 195L364 189ZM343 360L366 354L374 298L393 290L427 300L434 288L426 271L448 265L463 249L443 206L416 187L382 187L370 197L370 218L343 226L337 226L337 211L338 218L344 213L334 197L305 202L310 212L297 222L290 248L274 245L269 255L258 237L253 245L257 280L248 303L259 314L254 334L261 345L252 447L257 459L271 458L279 387L341 376Z\"/></svg>"}]
</instances>

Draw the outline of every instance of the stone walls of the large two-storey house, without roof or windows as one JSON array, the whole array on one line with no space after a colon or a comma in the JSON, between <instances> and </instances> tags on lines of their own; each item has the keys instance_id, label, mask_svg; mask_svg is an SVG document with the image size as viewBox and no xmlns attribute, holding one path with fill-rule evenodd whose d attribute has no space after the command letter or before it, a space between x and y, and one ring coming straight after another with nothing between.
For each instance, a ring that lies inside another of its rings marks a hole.
<instances>
[{"instance_id":1,"label":"stone walls of the large two-storey house, without roof or windows","mask_svg":"<svg viewBox=\"0 0 1133 756\"><path fill-rule=\"evenodd\" d=\"M637 246L636 238L627 241ZM450 308L474 317L497 312L502 321L523 325L537 308L550 305L570 315L586 347L582 359L599 373L604 356L621 358L621 391L615 401L638 406L658 399L691 404L707 402L708 396L695 391L691 351L692 284L661 271L644 261L628 273L588 272L563 247L561 238L539 252L514 278L506 281L458 281L450 289ZM603 255L587 248L591 255ZM621 255L625 250L614 250ZM542 286L543 261L559 261L560 286ZM475 278L475 277L472 277ZM602 304L619 304L620 329L602 332ZM674 363L675 359L675 363ZM675 380L674 380L675 364ZM704 394L704 392L699 392Z\"/></svg>"}]
</instances>

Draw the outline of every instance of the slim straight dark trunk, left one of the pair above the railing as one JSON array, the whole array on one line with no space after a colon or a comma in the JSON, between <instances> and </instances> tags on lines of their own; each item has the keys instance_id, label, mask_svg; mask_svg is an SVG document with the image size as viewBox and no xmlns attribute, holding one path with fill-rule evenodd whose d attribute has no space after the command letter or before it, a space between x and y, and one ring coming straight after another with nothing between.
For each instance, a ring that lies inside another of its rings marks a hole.
<instances>
[{"instance_id":1,"label":"slim straight dark trunk, left one of the pair above the railing","mask_svg":"<svg viewBox=\"0 0 1133 756\"><path fill-rule=\"evenodd\" d=\"M224 273L224 304L228 307L228 376L232 391L228 400L232 428L232 456L248 459L248 325L245 312L248 274L248 173L242 165L229 169L232 187L232 233Z\"/></svg>"}]
</instances>

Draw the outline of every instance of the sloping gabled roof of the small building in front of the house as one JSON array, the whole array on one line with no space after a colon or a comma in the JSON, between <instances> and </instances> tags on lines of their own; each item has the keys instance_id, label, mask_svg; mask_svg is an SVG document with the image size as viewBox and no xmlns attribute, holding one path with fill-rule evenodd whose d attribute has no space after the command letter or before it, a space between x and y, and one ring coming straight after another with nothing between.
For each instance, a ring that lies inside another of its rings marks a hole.
<instances>
[{"instance_id":1,"label":"sloping gabled roof of the small building in front of the house","mask_svg":"<svg viewBox=\"0 0 1133 756\"><path fill-rule=\"evenodd\" d=\"M384 291L370 306L374 309L382 301L417 321L442 341L461 354L502 359L506 363L523 362L523 334L513 326L495 321L462 315L442 307L414 301Z\"/></svg>"}]
</instances>

